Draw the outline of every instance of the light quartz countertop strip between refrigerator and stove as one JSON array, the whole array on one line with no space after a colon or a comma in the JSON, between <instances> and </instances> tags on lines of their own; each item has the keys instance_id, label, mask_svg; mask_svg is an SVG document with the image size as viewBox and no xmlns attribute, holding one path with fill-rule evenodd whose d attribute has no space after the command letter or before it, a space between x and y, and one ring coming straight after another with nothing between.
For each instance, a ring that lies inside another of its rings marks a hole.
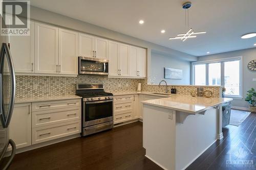
<instances>
[{"instance_id":1,"label":"light quartz countertop strip between refrigerator and stove","mask_svg":"<svg viewBox=\"0 0 256 170\"><path fill-rule=\"evenodd\" d=\"M44 102L44 101L56 101L56 100L68 100L68 99L81 99L78 95L59 95L59 96L45 96L39 98L17 98L15 103L30 103L30 102Z\"/></svg>"}]
</instances>

